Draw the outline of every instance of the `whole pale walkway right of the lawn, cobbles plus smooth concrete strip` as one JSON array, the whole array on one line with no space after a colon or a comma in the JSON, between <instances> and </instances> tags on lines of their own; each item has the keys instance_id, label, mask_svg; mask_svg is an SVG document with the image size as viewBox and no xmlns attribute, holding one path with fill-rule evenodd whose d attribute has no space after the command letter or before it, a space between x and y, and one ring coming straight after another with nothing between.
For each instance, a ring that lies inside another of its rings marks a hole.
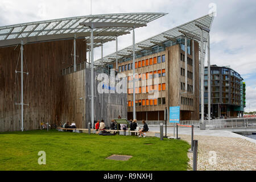
<instances>
[{"instance_id":1,"label":"whole pale walkway right of the lawn, cobbles plus smooth concrete strip","mask_svg":"<svg viewBox=\"0 0 256 182\"><path fill-rule=\"evenodd\" d=\"M173 130L168 128L167 135L173 136ZM150 127L150 131L159 132L159 128ZM180 128L179 137L191 144L191 129ZM194 139L199 141L197 170L256 171L256 140L230 131L200 129L195 129ZM192 167L193 153L188 152L188 158Z\"/></svg>"}]
</instances>

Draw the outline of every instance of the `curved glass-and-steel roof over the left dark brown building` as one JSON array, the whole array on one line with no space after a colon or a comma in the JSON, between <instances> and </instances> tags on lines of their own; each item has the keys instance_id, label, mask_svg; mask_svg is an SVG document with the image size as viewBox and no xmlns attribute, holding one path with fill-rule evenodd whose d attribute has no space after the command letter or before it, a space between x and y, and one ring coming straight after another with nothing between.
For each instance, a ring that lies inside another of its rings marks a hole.
<instances>
[{"instance_id":1,"label":"curved glass-and-steel roof over the left dark brown building","mask_svg":"<svg viewBox=\"0 0 256 182\"><path fill-rule=\"evenodd\" d=\"M0 47L43 42L48 40L86 38L90 36L90 28L81 26L80 23L88 22L118 22L118 23L141 23L146 24L158 19L166 13L121 13L121 14L100 14L75 16L71 18L61 18L43 20L39 22L20 23L10 26L0 27ZM129 34L132 28L97 28L94 36L97 40L94 47L100 46L113 40L116 36Z\"/></svg>"}]
</instances>

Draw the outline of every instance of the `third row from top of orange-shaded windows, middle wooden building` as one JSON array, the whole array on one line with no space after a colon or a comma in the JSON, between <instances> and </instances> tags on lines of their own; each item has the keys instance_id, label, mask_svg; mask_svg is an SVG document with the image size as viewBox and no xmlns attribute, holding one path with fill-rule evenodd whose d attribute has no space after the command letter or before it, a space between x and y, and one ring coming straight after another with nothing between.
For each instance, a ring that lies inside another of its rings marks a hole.
<instances>
[{"instance_id":1,"label":"third row from top of orange-shaded windows, middle wooden building","mask_svg":"<svg viewBox=\"0 0 256 182\"><path fill-rule=\"evenodd\" d=\"M152 93L156 90L158 90L158 91L166 90L166 84L139 86L139 87L135 88L135 93ZM133 88L127 89L127 93L132 94Z\"/></svg>"}]
</instances>

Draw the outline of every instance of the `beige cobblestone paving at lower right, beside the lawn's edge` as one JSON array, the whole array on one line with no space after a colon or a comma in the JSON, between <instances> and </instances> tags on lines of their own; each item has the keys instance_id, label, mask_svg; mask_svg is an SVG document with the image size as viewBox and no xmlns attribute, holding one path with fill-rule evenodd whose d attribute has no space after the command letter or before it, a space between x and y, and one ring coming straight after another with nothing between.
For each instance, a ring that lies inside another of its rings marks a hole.
<instances>
[{"instance_id":1,"label":"beige cobblestone paving at lower right, beside the lawn's edge","mask_svg":"<svg viewBox=\"0 0 256 182\"><path fill-rule=\"evenodd\" d=\"M153 132L147 134L154 137ZM172 136L168 134L168 136ZM191 144L191 135L179 135ZM198 140L198 171L256 171L256 144L242 138L194 135ZM216 160L209 152L214 151ZM188 152L189 168L193 167L193 153Z\"/></svg>"}]
</instances>

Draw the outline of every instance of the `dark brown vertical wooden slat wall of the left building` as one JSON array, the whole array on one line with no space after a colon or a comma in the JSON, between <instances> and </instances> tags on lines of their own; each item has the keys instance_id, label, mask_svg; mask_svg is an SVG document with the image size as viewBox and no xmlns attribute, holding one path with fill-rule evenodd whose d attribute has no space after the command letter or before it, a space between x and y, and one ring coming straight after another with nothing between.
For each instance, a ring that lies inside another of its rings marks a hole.
<instances>
[{"instance_id":1,"label":"dark brown vertical wooden slat wall of the left building","mask_svg":"<svg viewBox=\"0 0 256 182\"><path fill-rule=\"evenodd\" d=\"M86 43L77 39L77 63L86 60ZM24 45L24 72L28 67L28 91L24 90L24 129L39 129L40 122L61 122L64 86L62 69L73 64L73 40ZM19 95L16 96L15 68L20 46L0 48L0 131L21 128ZM20 60L20 59L19 59ZM20 61L17 71L20 71ZM18 73L20 85L20 73ZM24 85L26 75L24 75ZM25 89L25 86L24 86ZM18 94L20 89L18 90ZM16 100L18 97L18 101ZM28 103L27 103L28 102Z\"/></svg>"}]
</instances>

